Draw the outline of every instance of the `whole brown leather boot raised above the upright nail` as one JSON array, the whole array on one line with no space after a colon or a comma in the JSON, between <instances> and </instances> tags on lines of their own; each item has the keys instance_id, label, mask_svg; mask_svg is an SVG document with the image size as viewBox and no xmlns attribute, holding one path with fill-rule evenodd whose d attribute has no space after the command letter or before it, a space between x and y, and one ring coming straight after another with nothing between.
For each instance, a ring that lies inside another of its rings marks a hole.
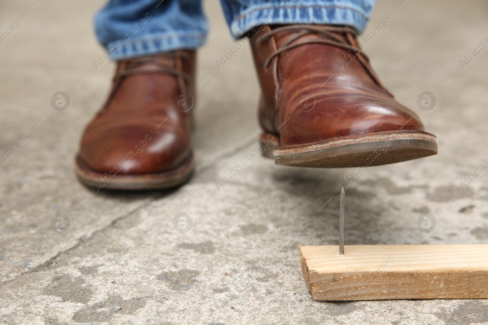
<instances>
[{"instance_id":1,"label":"whole brown leather boot raised above the upright nail","mask_svg":"<svg viewBox=\"0 0 488 325\"><path fill-rule=\"evenodd\" d=\"M436 136L386 90L353 28L264 27L251 46L261 140L276 164L366 167L437 153Z\"/></svg>"}]
</instances>

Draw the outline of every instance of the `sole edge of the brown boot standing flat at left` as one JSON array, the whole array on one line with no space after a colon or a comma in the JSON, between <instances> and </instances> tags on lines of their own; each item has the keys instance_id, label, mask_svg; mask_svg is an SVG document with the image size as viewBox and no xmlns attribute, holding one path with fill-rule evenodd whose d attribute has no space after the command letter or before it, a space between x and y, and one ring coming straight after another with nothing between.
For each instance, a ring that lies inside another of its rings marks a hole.
<instances>
[{"instance_id":1,"label":"sole edge of the brown boot standing flat at left","mask_svg":"<svg viewBox=\"0 0 488 325\"><path fill-rule=\"evenodd\" d=\"M104 190L161 190L182 185L191 177L194 167L193 153L175 170L154 174L118 175L91 170L80 156L75 158L75 172L81 183L87 187ZM102 180L103 181L102 181ZM103 185L103 186L101 186Z\"/></svg>"}]
</instances>

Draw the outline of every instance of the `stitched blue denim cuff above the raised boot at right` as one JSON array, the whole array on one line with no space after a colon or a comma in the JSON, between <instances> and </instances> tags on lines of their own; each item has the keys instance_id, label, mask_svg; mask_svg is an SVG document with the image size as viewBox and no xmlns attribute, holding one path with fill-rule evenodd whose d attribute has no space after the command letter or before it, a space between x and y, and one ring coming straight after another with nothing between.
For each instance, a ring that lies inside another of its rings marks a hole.
<instances>
[{"instance_id":1,"label":"stitched blue denim cuff above the raised boot at right","mask_svg":"<svg viewBox=\"0 0 488 325\"><path fill-rule=\"evenodd\" d=\"M320 24L348 25L363 32L370 12L361 8L337 5L280 5L249 8L233 19L230 32L235 39L243 38L258 25L264 24Z\"/></svg>"}]
</instances>

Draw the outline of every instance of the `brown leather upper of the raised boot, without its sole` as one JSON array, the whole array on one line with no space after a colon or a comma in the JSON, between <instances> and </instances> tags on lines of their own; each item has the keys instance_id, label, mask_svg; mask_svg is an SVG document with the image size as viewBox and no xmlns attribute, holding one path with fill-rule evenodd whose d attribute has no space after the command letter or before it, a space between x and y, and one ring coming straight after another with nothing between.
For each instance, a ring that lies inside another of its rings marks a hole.
<instances>
[{"instance_id":1,"label":"brown leather upper of the raised boot, without its sole","mask_svg":"<svg viewBox=\"0 0 488 325\"><path fill-rule=\"evenodd\" d=\"M260 122L265 132L280 137L281 146L374 132L425 131L419 116L397 102L381 84L367 57L336 45L313 43L336 41L295 26L296 30L271 37L266 33L280 26L265 26L251 39L262 89ZM351 33L332 34L346 43L342 46L358 46ZM296 43L305 44L293 47ZM266 64L284 44L291 48Z\"/></svg>"}]
</instances>

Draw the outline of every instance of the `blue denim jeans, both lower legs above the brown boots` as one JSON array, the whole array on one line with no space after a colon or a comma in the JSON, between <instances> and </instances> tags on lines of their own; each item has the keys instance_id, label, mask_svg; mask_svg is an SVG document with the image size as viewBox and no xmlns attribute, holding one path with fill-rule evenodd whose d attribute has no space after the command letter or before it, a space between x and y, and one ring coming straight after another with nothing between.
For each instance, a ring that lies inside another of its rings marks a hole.
<instances>
[{"instance_id":1,"label":"blue denim jeans, both lower legs above the brown boots","mask_svg":"<svg viewBox=\"0 0 488 325\"><path fill-rule=\"evenodd\" d=\"M205 1L205 0L204 0ZM235 39L259 24L349 25L362 32L375 0L221 0ZM109 0L95 17L113 60L203 45L208 22L201 0Z\"/></svg>"}]
</instances>

